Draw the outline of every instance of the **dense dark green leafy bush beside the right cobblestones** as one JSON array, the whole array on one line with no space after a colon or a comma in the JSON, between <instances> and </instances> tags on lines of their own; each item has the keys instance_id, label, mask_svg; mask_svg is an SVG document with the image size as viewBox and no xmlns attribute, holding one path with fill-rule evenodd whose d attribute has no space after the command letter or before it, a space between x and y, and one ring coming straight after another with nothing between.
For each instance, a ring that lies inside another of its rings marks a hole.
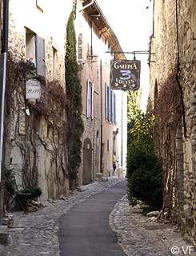
<instances>
[{"instance_id":1,"label":"dense dark green leafy bush beside the right cobblestones","mask_svg":"<svg viewBox=\"0 0 196 256\"><path fill-rule=\"evenodd\" d=\"M132 206L142 201L162 208L162 168L153 142L153 115L136 110L127 150L128 199Z\"/></svg>"}]
</instances>

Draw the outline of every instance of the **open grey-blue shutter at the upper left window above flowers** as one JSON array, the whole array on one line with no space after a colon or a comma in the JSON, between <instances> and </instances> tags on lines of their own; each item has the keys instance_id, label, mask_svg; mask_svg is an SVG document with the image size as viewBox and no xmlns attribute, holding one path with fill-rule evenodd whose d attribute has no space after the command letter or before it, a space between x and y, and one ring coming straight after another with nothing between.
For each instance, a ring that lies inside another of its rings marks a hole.
<instances>
[{"instance_id":1,"label":"open grey-blue shutter at the upper left window above flowers","mask_svg":"<svg viewBox=\"0 0 196 256\"><path fill-rule=\"evenodd\" d=\"M46 62L45 62L45 40L35 35L35 55L37 74L46 77Z\"/></svg>"}]
</instances>

